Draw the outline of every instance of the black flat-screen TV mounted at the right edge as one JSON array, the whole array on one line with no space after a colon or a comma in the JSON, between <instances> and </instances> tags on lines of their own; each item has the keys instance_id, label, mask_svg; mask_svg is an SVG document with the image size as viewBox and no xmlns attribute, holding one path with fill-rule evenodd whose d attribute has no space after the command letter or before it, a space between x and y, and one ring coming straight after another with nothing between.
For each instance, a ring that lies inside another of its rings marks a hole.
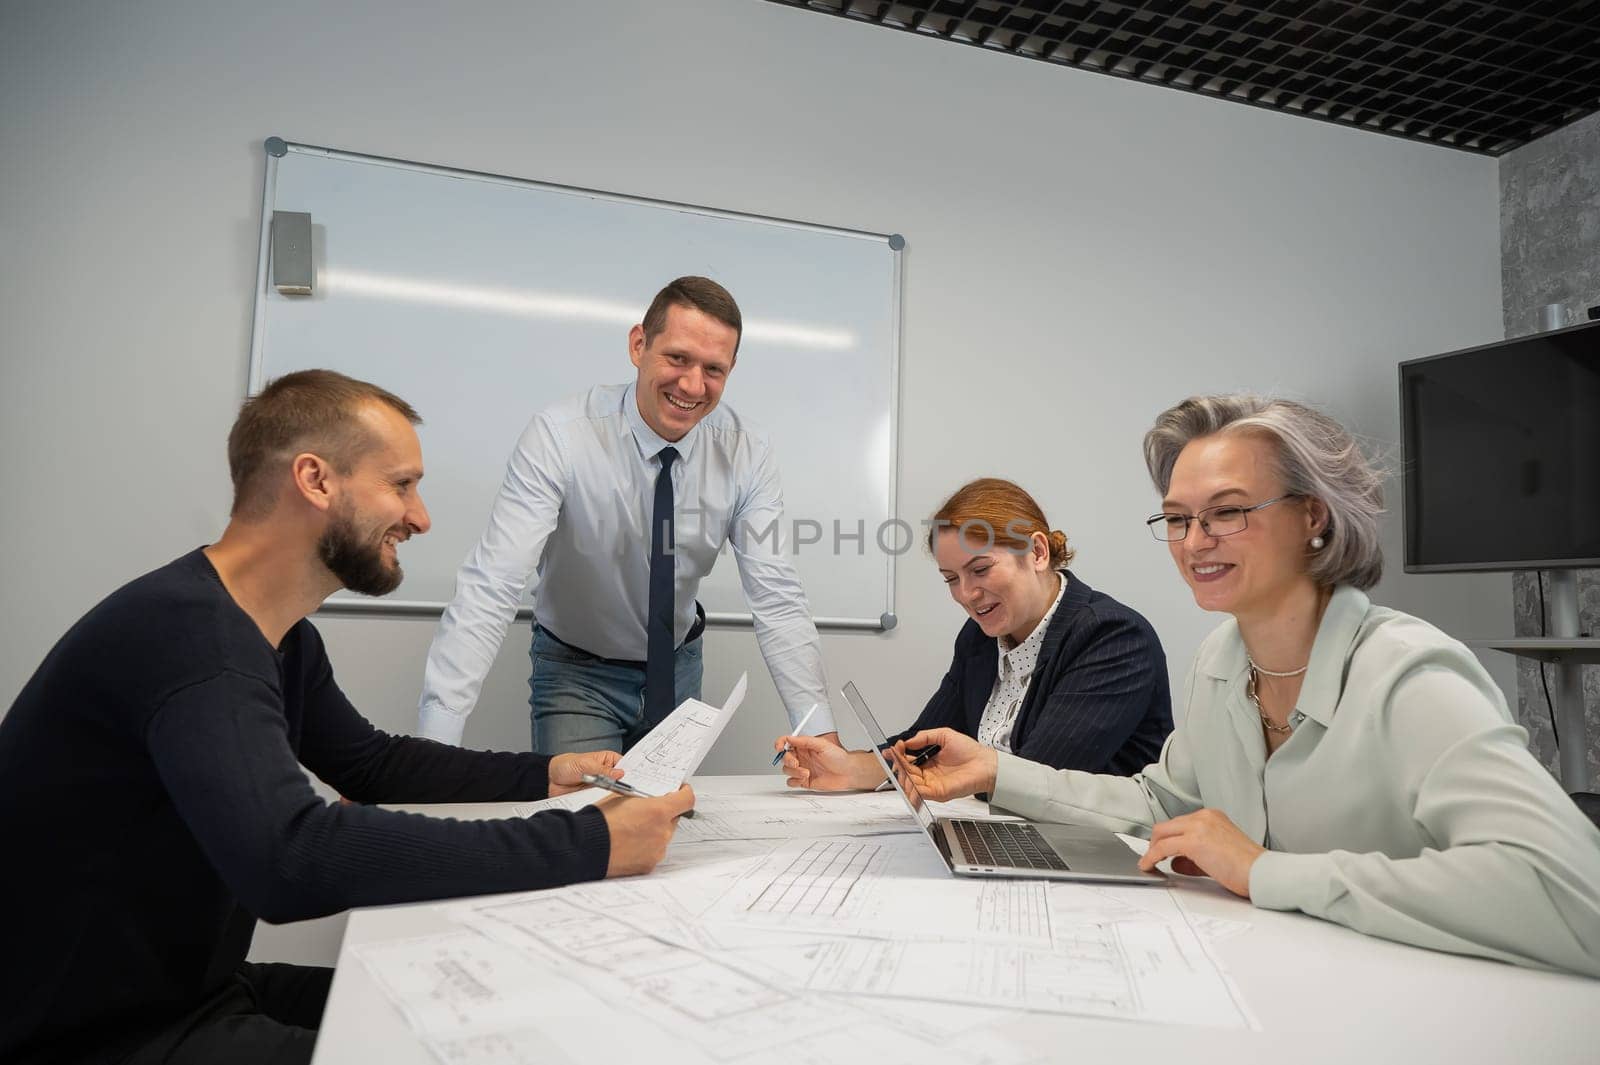
<instances>
[{"instance_id":1,"label":"black flat-screen TV mounted at the right edge","mask_svg":"<svg viewBox=\"0 0 1600 1065\"><path fill-rule=\"evenodd\" d=\"M1405 569L1600 566L1600 321L1400 363Z\"/></svg>"}]
</instances>

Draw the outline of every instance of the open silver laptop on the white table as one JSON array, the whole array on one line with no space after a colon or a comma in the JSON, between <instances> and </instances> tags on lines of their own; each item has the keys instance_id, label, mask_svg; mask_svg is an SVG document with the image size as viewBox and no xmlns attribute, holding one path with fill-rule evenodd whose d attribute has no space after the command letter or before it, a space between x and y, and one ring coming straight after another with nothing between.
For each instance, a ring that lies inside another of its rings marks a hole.
<instances>
[{"instance_id":1,"label":"open silver laptop on the white table","mask_svg":"<svg viewBox=\"0 0 1600 1065\"><path fill-rule=\"evenodd\" d=\"M928 843L958 876L1026 876L1032 880L1093 880L1118 884L1165 884L1160 873L1139 868L1139 856L1115 833L1085 825L1051 825L1032 820L973 820L934 817L923 804L901 756L888 745L877 718L854 684L845 684L845 702L856 713L883 763L890 784L906 800Z\"/></svg>"}]
</instances>

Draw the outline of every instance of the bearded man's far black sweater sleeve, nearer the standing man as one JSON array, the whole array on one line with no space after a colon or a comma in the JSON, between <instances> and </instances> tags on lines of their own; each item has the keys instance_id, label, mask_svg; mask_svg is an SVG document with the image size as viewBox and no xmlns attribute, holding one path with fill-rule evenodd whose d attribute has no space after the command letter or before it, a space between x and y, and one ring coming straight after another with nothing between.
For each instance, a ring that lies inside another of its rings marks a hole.
<instances>
[{"instance_id":1,"label":"bearded man's far black sweater sleeve, nearer the standing man","mask_svg":"<svg viewBox=\"0 0 1600 1065\"><path fill-rule=\"evenodd\" d=\"M549 795L547 755L462 750L374 728L339 689L309 624L302 644L299 761L339 795L357 803L501 803Z\"/></svg>"}]
</instances>

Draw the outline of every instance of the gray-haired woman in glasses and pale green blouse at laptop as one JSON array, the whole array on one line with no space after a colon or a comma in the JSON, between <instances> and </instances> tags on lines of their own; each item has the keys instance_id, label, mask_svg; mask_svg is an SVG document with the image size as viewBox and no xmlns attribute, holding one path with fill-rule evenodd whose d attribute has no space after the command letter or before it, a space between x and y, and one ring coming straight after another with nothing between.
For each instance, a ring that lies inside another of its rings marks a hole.
<instances>
[{"instance_id":1,"label":"gray-haired woman in glasses and pale green blouse at laptop","mask_svg":"<svg viewBox=\"0 0 1600 1065\"><path fill-rule=\"evenodd\" d=\"M1134 777L1053 771L931 729L931 798L1150 838L1259 907L1434 950L1600 975L1600 830L1528 753L1461 643L1374 606L1382 477L1298 403L1198 397L1144 438L1149 518L1195 601L1187 715Z\"/></svg>"}]
</instances>

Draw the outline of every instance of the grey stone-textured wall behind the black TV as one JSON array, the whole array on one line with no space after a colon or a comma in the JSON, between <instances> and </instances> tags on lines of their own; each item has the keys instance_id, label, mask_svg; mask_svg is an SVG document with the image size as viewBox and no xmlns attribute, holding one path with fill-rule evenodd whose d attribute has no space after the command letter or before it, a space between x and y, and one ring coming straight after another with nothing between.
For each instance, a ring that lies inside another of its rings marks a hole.
<instances>
[{"instance_id":1,"label":"grey stone-textured wall behind the black TV","mask_svg":"<svg viewBox=\"0 0 1600 1065\"><path fill-rule=\"evenodd\" d=\"M1587 309L1600 304L1600 114L1501 158L1501 285L1507 337L1538 333L1546 304L1562 304L1568 325L1582 321ZM1517 635L1539 635L1544 628L1534 576L1518 572L1512 587ZM1578 593L1579 630L1600 635L1600 571L1579 572ZM1554 684L1552 670L1552 692ZM1550 710L1539 668L1528 659L1518 659L1517 715L1533 752L1554 772ZM1584 668L1584 716L1587 790L1594 792L1600 790L1600 667Z\"/></svg>"}]
</instances>

